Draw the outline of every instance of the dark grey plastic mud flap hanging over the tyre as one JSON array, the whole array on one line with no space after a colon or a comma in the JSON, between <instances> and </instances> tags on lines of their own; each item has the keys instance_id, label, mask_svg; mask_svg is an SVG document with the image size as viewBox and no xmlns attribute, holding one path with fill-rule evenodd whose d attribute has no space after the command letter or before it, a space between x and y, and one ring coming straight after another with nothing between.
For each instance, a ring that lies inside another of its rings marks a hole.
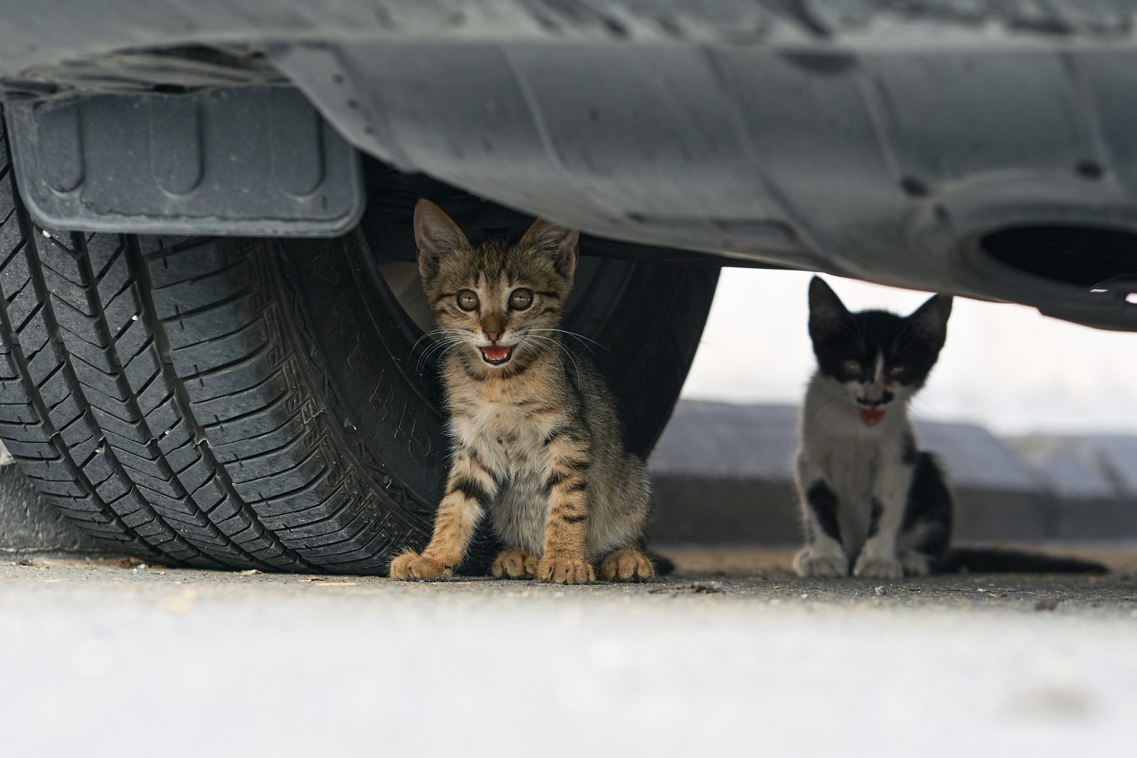
<instances>
[{"instance_id":1,"label":"dark grey plastic mud flap hanging over the tyre","mask_svg":"<svg viewBox=\"0 0 1137 758\"><path fill-rule=\"evenodd\" d=\"M358 153L290 86L69 94L5 114L45 227L334 236L366 205Z\"/></svg>"}]
</instances>

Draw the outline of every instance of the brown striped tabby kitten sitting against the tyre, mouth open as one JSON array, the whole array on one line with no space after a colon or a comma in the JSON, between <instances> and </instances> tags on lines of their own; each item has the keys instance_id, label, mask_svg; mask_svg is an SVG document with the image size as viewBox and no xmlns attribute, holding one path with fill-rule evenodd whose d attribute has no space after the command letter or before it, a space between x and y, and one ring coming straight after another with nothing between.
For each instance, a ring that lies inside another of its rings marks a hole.
<instances>
[{"instance_id":1,"label":"brown striped tabby kitten sitting against the tyre, mouth open","mask_svg":"<svg viewBox=\"0 0 1137 758\"><path fill-rule=\"evenodd\" d=\"M448 351L451 464L430 544L391 561L399 580L450 576L489 514L507 545L496 577L638 581L649 489L623 448L612 395L557 328L578 233L538 219L516 245L474 249L429 200L415 206L418 270Z\"/></svg>"}]
</instances>

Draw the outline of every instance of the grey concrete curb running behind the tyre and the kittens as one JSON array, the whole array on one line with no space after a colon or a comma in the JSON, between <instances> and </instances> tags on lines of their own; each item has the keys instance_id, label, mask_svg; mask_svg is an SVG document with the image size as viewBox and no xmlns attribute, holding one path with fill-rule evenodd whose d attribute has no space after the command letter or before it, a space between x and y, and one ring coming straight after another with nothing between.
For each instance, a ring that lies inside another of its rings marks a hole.
<instances>
[{"instance_id":1,"label":"grey concrete curb running behind the tyre and the kittens","mask_svg":"<svg viewBox=\"0 0 1137 758\"><path fill-rule=\"evenodd\" d=\"M916 423L956 499L955 538L1137 536L1137 438L998 440L979 426ZM659 544L796 544L791 406L679 403L649 461ZM108 553L44 501L0 448L0 555Z\"/></svg>"}]
</instances>

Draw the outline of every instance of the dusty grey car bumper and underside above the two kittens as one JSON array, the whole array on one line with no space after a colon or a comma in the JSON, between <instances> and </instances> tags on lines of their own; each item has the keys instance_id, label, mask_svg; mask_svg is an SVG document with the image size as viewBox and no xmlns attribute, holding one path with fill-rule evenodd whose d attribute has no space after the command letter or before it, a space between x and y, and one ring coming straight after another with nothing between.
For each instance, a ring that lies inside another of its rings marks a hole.
<instances>
[{"instance_id":1,"label":"dusty grey car bumper and underside above the two kittens","mask_svg":"<svg viewBox=\"0 0 1137 758\"><path fill-rule=\"evenodd\" d=\"M49 147L91 145L56 163L93 160L94 145L105 163L127 158L131 141L113 155L98 118L108 98L119 113L135 103L135 128L198 113L208 130L210 114L232 116L210 107L218 91L240 89L222 97L256 114L258 99L294 86L332 134L319 144L297 115L305 103L273 95L273 123L304 128L258 141L315 153L309 175L301 166L284 180L299 182L293 199L323 197L312 186L321 168L341 195L352 186L333 155L342 136L401 172L603 238L1130 330L1135 7L323 0L142 11L55 0L5 11L0 70L25 185L35 169L20 145L38 133ZM153 150L174 156L164 169L175 185L191 182L233 151L224 132L167 132ZM185 157L194 166L176 165L179 141L198 147ZM271 178L267 163L250 183ZM198 197L140 208L81 165L50 168L88 176L45 191L55 203L42 208L82 228L173 232L181 218L234 233L243 218L244 233L326 234L362 210L358 197L333 198L335 218L242 208L236 198L255 193L239 182L216 207ZM1060 240L1039 244L1037 231L1055 227Z\"/></svg>"}]
</instances>

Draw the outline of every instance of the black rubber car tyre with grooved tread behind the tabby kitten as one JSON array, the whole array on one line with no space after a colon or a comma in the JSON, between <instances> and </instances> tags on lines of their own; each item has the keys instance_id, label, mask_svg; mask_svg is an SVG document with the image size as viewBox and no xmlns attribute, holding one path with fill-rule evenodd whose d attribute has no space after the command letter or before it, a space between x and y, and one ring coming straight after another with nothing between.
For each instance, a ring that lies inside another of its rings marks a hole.
<instances>
[{"instance_id":1,"label":"black rubber car tyre with grooved tread behind the tabby kitten","mask_svg":"<svg viewBox=\"0 0 1137 758\"><path fill-rule=\"evenodd\" d=\"M11 172L0 182L0 439L70 519L124 552L214 568L384 573L425 545L447 444L407 264L359 232L44 231ZM565 328L604 345L594 359L646 456L717 269L588 269ZM493 549L479 535L464 569Z\"/></svg>"}]
</instances>

